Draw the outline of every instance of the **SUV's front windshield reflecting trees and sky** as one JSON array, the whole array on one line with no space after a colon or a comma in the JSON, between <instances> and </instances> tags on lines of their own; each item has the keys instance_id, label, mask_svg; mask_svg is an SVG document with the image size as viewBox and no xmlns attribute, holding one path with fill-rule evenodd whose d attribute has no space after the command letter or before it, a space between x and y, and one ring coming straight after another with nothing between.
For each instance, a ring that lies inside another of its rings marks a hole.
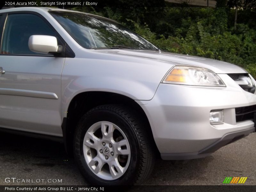
<instances>
[{"instance_id":1,"label":"SUV's front windshield reflecting trees and sky","mask_svg":"<svg viewBox=\"0 0 256 192\"><path fill-rule=\"evenodd\" d=\"M115 21L80 12L50 11L60 25L86 49L157 47Z\"/></svg>"}]
</instances>

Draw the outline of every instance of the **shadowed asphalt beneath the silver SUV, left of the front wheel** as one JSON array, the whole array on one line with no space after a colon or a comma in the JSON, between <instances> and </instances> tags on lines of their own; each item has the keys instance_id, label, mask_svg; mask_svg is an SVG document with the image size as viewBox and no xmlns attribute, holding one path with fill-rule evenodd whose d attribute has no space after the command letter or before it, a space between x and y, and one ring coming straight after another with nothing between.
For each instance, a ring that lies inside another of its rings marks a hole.
<instances>
[{"instance_id":1,"label":"shadowed asphalt beneath the silver SUV, left of the front wheel","mask_svg":"<svg viewBox=\"0 0 256 192\"><path fill-rule=\"evenodd\" d=\"M61 182L6 183L5 177L61 179ZM64 144L0 133L0 185L87 185Z\"/></svg>"}]
</instances>

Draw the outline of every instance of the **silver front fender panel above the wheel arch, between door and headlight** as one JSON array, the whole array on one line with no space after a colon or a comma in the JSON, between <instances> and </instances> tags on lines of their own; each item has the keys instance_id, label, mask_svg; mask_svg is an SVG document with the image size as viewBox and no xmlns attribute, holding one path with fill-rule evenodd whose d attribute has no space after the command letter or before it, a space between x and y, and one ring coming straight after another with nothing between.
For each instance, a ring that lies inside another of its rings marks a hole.
<instances>
[{"instance_id":1,"label":"silver front fender panel above the wheel arch, between door and headlight","mask_svg":"<svg viewBox=\"0 0 256 192\"><path fill-rule=\"evenodd\" d=\"M66 58L61 75L61 114L67 116L71 100L79 93L113 92L133 100L151 100L169 66L118 60Z\"/></svg>"}]
</instances>

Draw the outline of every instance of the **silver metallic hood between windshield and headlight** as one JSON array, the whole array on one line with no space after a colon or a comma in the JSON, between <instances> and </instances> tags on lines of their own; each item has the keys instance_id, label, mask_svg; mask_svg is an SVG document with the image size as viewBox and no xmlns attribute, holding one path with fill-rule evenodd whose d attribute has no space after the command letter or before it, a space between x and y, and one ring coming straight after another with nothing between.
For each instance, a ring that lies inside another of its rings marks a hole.
<instances>
[{"instance_id":1,"label":"silver metallic hood between windshield and headlight","mask_svg":"<svg viewBox=\"0 0 256 192\"><path fill-rule=\"evenodd\" d=\"M203 57L196 57L190 55L182 55L161 51L147 51L147 50L127 50L127 49L101 49L99 52L124 55L131 57L138 57L140 59L150 59L157 61L170 62L172 65L190 65L196 67L202 67L212 70L218 74L227 73L248 73L245 69L224 61L207 59Z\"/></svg>"}]
</instances>

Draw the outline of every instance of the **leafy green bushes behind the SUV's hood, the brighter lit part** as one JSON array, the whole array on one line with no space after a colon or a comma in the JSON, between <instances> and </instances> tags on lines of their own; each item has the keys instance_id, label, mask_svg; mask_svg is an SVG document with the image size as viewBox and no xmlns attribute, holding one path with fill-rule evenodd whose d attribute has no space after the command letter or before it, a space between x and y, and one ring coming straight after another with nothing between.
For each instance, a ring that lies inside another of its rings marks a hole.
<instances>
[{"instance_id":1,"label":"leafy green bushes behind the SUV's hood, the brighter lit part","mask_svg":"<svg viewBox=\"0 0 256 192\"><path fill-rule=\"evenodd\" d=\"M243 23L237 24L236 31L228 29L225 8L200 8L197 11L197 18L181 20L175 36L157 35L148 25L134 21L133 29L164 51L230 62L247 69L256 78L256 30ZM200 18L202 14L204 17Z\"/></svg>"}]
</instances>

